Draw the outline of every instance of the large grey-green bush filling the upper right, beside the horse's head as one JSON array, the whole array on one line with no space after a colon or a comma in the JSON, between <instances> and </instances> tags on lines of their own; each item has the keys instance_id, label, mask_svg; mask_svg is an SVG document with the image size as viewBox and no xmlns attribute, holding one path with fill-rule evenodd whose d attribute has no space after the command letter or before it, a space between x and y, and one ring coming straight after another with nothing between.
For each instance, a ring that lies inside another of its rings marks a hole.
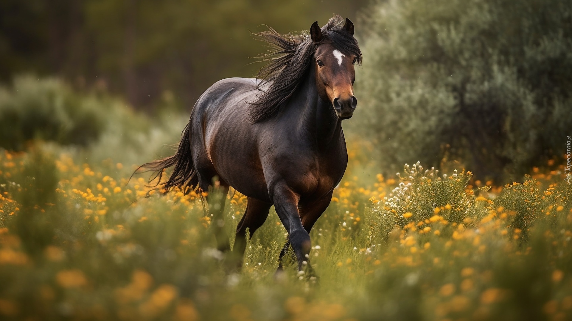
<instances>
[{"instance_id":1,"label":"large grey-green bush filling the upper right, beside the horse's head","mask_svg":"<svg viewBox=\"0 0 572 321\"><path fill-rule=\"evenodd\" d=\"M385 170L459 160L521 178L565 153L572 122L572 3L379 1L360 34L362 106Z\"/></svg>"}]
</instances>

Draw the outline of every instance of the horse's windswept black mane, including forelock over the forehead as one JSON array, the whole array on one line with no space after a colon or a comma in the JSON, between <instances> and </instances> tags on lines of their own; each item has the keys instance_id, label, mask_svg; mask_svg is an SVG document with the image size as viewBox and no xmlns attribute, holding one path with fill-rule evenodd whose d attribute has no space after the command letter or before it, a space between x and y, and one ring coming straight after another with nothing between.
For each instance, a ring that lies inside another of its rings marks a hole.
<instances>
[{"instance_id":1,"label":"horse's windswept black mane, including forelock over the forehead","mask_svg":"<svg viewBox=\"0 0 572 321\"><path fill-rule=\"evenodd\" d=\"M321 42L332 42L336 49L346 55L356 55L358 63L362 62L362 52L358 41L343 29L345 19L334 15L321 28L324 39ZM258 58L268 62L259 70L257 78L261 86L269 84L256 101L251 102L250 119L253 123L261 122L276 115L280 107L298 89L313 63L313 54L317 45L312 41L308 31L301 34L279 34L268 27L268 31L256 33L261 40L271 46L271 50ZM320 42L320 43L321 43Z\"/></svg>"}]
</instances>

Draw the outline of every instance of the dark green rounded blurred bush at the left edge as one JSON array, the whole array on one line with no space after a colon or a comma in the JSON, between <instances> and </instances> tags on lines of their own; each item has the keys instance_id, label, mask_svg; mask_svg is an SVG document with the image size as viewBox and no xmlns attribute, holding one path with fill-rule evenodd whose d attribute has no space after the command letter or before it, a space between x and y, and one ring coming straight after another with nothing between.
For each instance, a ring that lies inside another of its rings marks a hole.
<instances>
[{"instance_id":1,"label":"dark green rounded blurred bush at the left edge","mask_svg":"<svg viewBox=\"0 0 572 321\"><path fill-rule=\"evenodd\" d=\"M23 150L31 139L86 145L104 129L101 105L57 79L16 77L11 88L0 88L0 146Z\"/></svg>"}]
</instances>

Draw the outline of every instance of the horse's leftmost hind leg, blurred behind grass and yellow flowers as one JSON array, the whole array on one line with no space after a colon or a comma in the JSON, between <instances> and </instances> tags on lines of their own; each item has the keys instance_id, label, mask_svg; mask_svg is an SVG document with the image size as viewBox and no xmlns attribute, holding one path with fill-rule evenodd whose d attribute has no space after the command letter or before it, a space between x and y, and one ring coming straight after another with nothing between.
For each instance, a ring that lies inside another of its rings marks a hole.
<instances>
[{"instance_id":1,"label":"horse's leftmost hind leg, blurred behind grass and yellow flowers","mask_svg":"<svg viewBox=\"0 0 572 321\"><path fill-rule=\"evenodd\" d=\"M206 195L209 214L212 216L210 225L215 233L217 249L223 252L231 249L231 242L224 228L224 204L227 200L227 193L228 184L223 180L216 180L209 186L209 193Z\"/></svg>"}]
</instances>

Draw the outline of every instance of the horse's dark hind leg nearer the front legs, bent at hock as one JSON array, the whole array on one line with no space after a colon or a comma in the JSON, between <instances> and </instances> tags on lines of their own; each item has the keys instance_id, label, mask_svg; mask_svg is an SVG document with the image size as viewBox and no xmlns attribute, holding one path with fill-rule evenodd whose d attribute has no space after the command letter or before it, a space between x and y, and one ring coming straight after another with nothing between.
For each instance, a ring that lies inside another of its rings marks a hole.
<instances>
[{"instance_id":1,"label":"horse's dark hind leg nearer the front legs, bent at hock","mask_svg":"<svg viewBox=\"0 0 572 321\"><path fill-rule=\"evenodd\" d=\"M248 198L247 210L244 212L243 218L240 219L239 224L236 226L236 239L235 245L232 248L233 256L238 267L243 264L244 250L247 246L246 232L249 231L249 237L264 224L268 218L268 211L272 204L262 202L255 198Z\"/></svg>"}]
</instances>

